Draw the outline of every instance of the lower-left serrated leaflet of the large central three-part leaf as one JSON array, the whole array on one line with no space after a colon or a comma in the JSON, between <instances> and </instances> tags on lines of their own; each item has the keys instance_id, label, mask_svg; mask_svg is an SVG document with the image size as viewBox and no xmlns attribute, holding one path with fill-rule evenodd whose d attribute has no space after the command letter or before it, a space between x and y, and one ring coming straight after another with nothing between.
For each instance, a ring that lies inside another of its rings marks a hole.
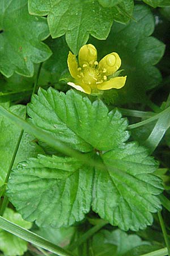
<instances>
[{"instance_id":1,"label":"lower-left serrated leaflet of the large central three-part leaf","mask_svg":"<svg viewBox=\"0 0 170 256\"><path fill-rule=\"evenodd\" d=\"M93 176L92 168L73 158L39 155L12 172L8 195L25 219L68 226L90 211Z\"/></svg>"}]
</instances>

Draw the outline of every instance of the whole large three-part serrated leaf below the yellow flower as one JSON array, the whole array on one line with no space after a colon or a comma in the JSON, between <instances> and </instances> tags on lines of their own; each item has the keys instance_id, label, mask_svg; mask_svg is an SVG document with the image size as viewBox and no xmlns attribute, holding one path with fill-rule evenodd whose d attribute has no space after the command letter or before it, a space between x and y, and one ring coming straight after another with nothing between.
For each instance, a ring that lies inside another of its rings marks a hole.
<instances>
[{"instance_id":1,"label":"whole large three-part serrated leaf below the yellow flower","mask_svg":"<svg viewBox=\"0 0 170 256\"><path fill-rule=\"evenodd\" d=\"M91 103L74 90L64 94L49 88L32 97L28 114L54 139L91 151L88 158L103 162L103 169L63 156L20 163L7 194L23 218L41 226L71 225L92 205L101 218L124 230L152 224L151 213L160 209L156 195L163 189L153 174L158 164L146 148L125 144L127 122L118 110L108 113L101 100Z\"/></svg>"}]
</instances>

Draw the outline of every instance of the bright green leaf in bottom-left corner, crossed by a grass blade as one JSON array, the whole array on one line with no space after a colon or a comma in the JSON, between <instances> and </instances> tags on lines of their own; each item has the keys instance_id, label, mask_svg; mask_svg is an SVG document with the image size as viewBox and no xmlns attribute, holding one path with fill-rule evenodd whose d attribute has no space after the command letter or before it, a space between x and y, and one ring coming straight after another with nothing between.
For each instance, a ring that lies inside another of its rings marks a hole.
<instances>
[{"instance_id":1,"label":"bright green leaf in bottom-left corner, crossed by a grass blade","mask_svg":"<svg viewBox=\"0 0 170 256\"><path fill-rule=\"evenodd\" d=\"M24 221L19 213L14 212L14 210L10 208L6 208L3 217L25 229L30 229L32 226L30 222ZM0 229L0 250L2 250L5 255L9 256L23 255L24 252L27 251L27 242Z\"/></svg>"}]
</instances>

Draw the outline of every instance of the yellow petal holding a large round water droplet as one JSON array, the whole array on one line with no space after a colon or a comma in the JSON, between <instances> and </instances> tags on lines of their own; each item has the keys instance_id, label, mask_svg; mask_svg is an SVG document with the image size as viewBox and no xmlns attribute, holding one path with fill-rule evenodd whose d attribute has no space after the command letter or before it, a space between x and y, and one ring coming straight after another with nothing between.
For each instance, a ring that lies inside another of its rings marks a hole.
<instances>
[{"instance_id":1,"label":"yellow petal holding a large round water droplet","mask_svg":"<svg viewBox=\"0 0 170 256\"><path fill-rule=\"evenodd\" d=\"M112 52L103 57L99 62L99 68L104 71L104 75L110 76L121 66L120 56L116 52Z\"/></svg>"}]
</instances>

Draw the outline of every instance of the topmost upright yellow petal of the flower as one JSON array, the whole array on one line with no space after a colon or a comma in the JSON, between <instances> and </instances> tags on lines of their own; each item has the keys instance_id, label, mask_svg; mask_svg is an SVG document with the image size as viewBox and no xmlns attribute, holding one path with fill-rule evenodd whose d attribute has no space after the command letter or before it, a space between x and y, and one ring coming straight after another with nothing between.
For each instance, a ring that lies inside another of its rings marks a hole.
<instances>
[{"instance_id":1,"label":"topmost upright yellow petal of the flower","mask_svg":"<svg viewBox=\"0 0 170 256\"><path fill-rule=\"evenodd\" d=\"M97 50L92 44L85 44L79 51L79 65L94 65L97 60Z\"/></svg>"}]
</instances>

